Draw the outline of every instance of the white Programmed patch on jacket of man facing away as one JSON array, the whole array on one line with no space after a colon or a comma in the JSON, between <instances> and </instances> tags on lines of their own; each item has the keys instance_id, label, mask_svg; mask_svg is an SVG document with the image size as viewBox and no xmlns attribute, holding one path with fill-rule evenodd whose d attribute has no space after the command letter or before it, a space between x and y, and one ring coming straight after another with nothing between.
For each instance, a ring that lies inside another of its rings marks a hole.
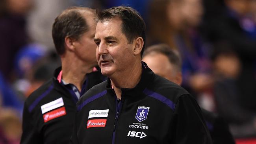
<instances>
[{"instance_id":1,"label":"white Programmed patch on jacket of man facing away","mask_svg":"<svg viewBox=\"0 0 256 144\"><path fill-rule=\"evenodd\" d=\"M54 100L52 102L46 103L44 105L41 106L41 110L42 110L42 114L51 111L53 109L56 109L58 107L61 107L64 105L63 99L62 98L58 98L57 100Z\"/></svg>"}]
</instances>

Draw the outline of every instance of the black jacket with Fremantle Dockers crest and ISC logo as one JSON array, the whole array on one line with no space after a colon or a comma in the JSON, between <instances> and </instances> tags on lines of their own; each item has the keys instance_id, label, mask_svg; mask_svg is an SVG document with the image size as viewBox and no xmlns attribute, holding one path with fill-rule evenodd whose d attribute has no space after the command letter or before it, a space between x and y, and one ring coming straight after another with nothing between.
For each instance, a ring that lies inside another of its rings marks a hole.
<instances>
[{"instance_id":1,"label":"black jacket with Fremantle Dockers crest and ISC logo","mask_svg":"<svg viewBox=\"0 0 256 144\"><path fill-rule=\"evenodd\" d=\"M211 144L196 100L147 66L121 101L110 79L88 90L77 103L73 144Z\"/></svg>"}]
</instances>

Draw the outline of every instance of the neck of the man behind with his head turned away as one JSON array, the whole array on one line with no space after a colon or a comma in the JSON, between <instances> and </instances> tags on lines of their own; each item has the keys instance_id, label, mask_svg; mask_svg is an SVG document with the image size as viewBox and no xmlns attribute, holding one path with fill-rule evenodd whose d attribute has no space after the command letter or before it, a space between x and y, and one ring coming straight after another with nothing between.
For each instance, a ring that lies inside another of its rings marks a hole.
<instances>
[{"instance_id":1,"label":"neck of the man behind with his head turned away","mask_svg":"<svg viewBox=\"0 0 256 144\"><path fill-rule=\"evenodd\" d=\"M61 57L62 79L65 83L72 83L79 91L82 90L86 74L92 72L93 66L85 62L72 58Z\"/></svg>"}]
</instances>

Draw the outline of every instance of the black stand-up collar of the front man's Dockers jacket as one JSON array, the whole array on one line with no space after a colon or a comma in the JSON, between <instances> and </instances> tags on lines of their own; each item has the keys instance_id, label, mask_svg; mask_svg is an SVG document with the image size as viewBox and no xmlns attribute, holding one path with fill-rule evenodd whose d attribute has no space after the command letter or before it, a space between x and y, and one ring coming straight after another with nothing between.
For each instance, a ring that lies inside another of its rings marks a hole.
<instances>
[{"instance_id":1,"label":"black stand-up collar of the front man's Dockers jacket","mask_svg":"<svg viewBox=\"0 0 256 144\"><path fill-rule=\"evenodd\" d=\"M139 83L132 89L129 88L122 88L122 98L129 98L129 97L134 97L137 96L138 94L141 94L143 90L150 84L152 79L154 78L154 72L150 68L148 68L147 64L145 62L142 63L142 74L141 74L141 79ZM108 78L108 83L106 85L107 90L111 90L111 81Z\"/></svg>"}]
</instances>

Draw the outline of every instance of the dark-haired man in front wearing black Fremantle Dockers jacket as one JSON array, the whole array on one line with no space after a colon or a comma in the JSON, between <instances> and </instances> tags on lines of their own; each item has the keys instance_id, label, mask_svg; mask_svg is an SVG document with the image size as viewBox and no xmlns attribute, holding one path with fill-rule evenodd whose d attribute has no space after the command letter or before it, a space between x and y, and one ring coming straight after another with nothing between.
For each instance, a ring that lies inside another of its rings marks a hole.
<instances>
[{"instance_id":1,"label":"dark-haired man in front wearing black Fremantle Dockers jacket","mask_svg":"<svg viewBox=\"0 0 256 144\"><path fill-rule=\"evenodd\" d=\"M212 143L195 99L141 62L145 29L131 7L98 13L96 57L109 79L78 101L72 143Z\"/></svg>"}]
</instances>

